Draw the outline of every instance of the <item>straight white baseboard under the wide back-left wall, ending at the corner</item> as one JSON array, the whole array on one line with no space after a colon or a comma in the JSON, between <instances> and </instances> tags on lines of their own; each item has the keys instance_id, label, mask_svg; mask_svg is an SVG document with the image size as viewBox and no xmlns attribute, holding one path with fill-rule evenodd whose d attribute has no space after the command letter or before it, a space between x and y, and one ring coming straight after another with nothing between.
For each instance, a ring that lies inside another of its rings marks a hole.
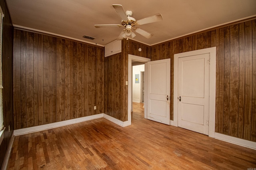
<instances>
[{"instance_id":1,"label":"straight white baseboard under the wide back-left wall, ending at the corner","mask_svg":"<svg viewBox=\"0 0 256 170\"><path fill-rule=\"evenodd\" d=\"M39 125L36 127L22 128L22 129L14 130L14 136L33 133L33 132L39 132L39 131L47 130L47 129L51 129L51 128L63 127L66 125L72 125L75 123L90 121L90 120L98 119L98 118L102 118L102 117L104 117L104 113L92 115L92 116L80 117L80 118L76 118L76 119L70 119L67 121L61 121L61 122L56 122L56 123L49 123L46 125Z\"/></svg>"}]
</instances>

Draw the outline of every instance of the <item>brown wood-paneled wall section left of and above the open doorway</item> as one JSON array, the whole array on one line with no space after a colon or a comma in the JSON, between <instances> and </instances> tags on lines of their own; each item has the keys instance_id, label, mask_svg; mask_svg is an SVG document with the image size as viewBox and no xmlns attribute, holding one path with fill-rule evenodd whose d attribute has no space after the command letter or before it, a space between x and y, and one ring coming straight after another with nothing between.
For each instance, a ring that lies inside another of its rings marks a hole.
<instances>
[{"instance_id":1,"label":"brown wood-paneled wall section left of and above the open doorway","mask_svg":"<svg viewBox=\"0 0 256 170\"><path fill-rule=\"evenodd\" d=\"M150 47L123 39L122 52L105 57L105 113L120 121L128 120L128 54L149 58Z\"/></svg>"}]
</instances>

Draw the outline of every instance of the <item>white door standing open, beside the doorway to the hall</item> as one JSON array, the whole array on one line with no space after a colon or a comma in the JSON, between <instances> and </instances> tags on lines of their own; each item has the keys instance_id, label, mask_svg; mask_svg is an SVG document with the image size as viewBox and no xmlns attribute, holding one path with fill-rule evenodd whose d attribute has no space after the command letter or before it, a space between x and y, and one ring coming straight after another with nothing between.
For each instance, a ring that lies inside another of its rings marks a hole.
<instances>
[{"instance_id":1,"label":"white door standing open, beside the doorway to the hall","mask_svg":"<svg viewBox=\"0 0 256 170\"><path fill-rule=\"evenodd\" d=\"M170 59L147 63L147 119L170 125Z\"/></svg>"}]
</instances>

